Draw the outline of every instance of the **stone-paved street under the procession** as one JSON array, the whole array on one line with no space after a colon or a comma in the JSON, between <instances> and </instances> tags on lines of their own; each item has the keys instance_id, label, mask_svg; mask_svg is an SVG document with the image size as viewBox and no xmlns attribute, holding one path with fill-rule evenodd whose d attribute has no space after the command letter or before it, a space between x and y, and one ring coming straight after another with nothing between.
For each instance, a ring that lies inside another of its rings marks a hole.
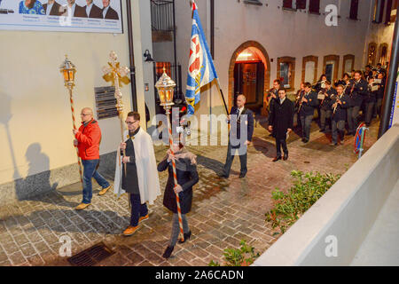
<instances>
[{"instance_id":1,"label":"stone-paved street under the procession","mask_svg":"<svg viewBox=\"0 0 399 284\"><path fill-rule=\"evenodd\" d=\"M377 121L367 132L365 149L376 141ZM72 240L72 254L104 241L115 254L98 265L207 265L211 260L223 263L224 248L238 248L246 240L256 251L263 252L277 240L278 230L264 221L271 209L271 192L275 187L286 191L291 170L318 170L343 173L356 162L353 138L344 146L329 146L331 136L318 132L312 124L310 142L301 143L295 133L290 135L289 160L271 162L276 150L264 122L256 122L253 146L248 148L248 173L239 178L239 159L233 162L231 177L217 177L226 157L227 146L189 146L198 155L200 182L194 187L192 212L188 220L192 238L176 245L168 260L161 257L168 245L172 215L162 206L162 196L150 206L150 218L139 230L124 237L121 232L129 225L127 196L119 200L112 192L98 196L94 191L92 205L75 211L82 198L80 185L64 188L20 201L0 209L0 265L69 265L59 256L61 236ZM298 130L296 130L298 132ZM165 146L156 147L159 162ZM167 172L160 173L160 186L166 184ZM95 184L95 186L98 186Z\"/></svg>"}]
</instances>

